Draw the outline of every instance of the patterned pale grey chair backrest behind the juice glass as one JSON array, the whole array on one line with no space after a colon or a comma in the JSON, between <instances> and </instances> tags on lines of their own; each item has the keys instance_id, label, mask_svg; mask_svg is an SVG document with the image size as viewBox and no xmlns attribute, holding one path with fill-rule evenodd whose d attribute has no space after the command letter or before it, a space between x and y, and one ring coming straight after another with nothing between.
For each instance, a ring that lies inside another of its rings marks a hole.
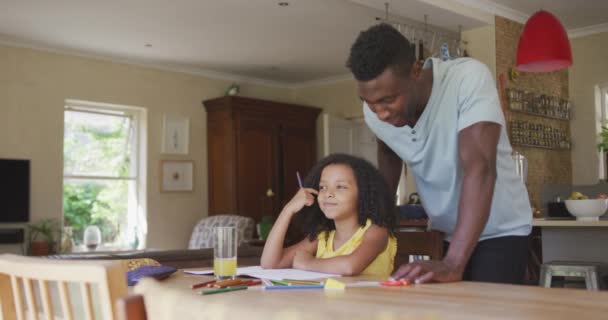
<instances>
[{"instance_id":1,"label":"patterned pale grey chair backrest behind the juice glass","mask_svg":"<svg viewBox=\"0 0 608 320\"><path fill-rule=\"evenodd\" d=\"M203 218L199 221L192 235L188 249L213 248L215 239L213 238L213 227L235 226L238 233L239 245L243 241L253 239L255 231L255 220L249 217L225 214L214 215Z\"/></svg>"}]
</instances>

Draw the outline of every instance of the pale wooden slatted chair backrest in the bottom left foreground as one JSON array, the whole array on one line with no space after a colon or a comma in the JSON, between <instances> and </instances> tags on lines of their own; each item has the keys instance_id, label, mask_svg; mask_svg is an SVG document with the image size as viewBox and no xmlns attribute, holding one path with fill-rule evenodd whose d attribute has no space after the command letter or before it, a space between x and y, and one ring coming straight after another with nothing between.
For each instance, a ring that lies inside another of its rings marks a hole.
<instances>
[{"instance_id":1,"label":"pale wooden slatted chair backrest in the bottom left foreground","mask_svg":"<svg viewBox=\"0 0 608 320\"><path fill-rule=\"evenodd\" d=\"M38 319L42 313L46 319L111 320L114 302L126 295L126 267L120 261L0 255L2 319Z\"/></svg>"}]
</instances>

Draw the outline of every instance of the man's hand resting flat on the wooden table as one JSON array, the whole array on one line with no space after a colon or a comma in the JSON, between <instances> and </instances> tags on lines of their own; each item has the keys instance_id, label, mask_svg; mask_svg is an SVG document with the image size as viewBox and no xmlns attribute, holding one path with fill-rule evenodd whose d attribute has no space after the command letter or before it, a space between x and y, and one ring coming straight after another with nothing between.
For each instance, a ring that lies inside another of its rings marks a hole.
<instances>
[{"instance_id":1,"label":"man's hand resting flat on the wooden table","mask_svg":"<svg viewBox=\"0 0 608 320\"><path fill-rule=\"evenodd\" d=\"M401 265L391 278L404 279L411 283L425 282L454 282L462 280L462 268L451 265L446 261L428 260L416 261Z\"/></svg>"}]
</instances>

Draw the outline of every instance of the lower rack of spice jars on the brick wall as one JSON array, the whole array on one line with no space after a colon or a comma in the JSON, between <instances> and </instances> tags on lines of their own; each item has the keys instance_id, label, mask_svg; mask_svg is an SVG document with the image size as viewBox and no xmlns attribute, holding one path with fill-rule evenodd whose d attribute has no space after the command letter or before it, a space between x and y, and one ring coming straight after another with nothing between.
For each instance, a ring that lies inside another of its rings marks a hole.
<instances>
[{"instance_id":1,"label":"lower rack of spice jars on the brick wall","mask_svg":"<svg viewBox=\"0 0 608 320\"><path fill-rule=\"evenodd\" d=\"M542 123L530 121L509 121L509 139L513 145L569 150L570 136L568 132Z\"/></svg>"}]
</instances>

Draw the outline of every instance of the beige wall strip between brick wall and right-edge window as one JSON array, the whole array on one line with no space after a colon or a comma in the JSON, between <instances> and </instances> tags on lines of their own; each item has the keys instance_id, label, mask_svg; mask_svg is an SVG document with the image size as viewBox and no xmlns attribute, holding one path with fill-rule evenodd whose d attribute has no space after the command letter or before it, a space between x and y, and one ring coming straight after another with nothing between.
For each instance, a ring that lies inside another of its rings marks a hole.
<instances>
[{"instance_id":1,"label":"beige wall strip between brick wall and right-edge window","mask_svg":"<svg viewBox=\"0 0 608 320\"><path fill-rule=\"evenodd\" d=\"M572 176L574 184L598 181L594 86L608 82L608 32L570 40L569 86L573 103Z\"/></svg>"}]
</instances>

